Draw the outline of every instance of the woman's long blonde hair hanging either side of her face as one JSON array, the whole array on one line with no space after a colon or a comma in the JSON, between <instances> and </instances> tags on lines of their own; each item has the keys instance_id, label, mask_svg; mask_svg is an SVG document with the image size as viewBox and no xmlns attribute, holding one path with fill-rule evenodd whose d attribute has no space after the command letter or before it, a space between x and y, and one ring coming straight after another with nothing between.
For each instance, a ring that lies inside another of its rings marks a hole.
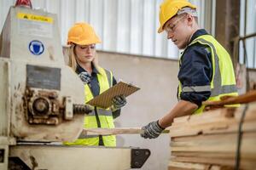
<instances>
[{"instance_id":1,"label":"woman's long blonde hair hanging either side of her face","mask_svg":"<svg viewBox=\"0 0 256 170\"><path fill-rule=\"evenodd\" d=\"M72 43L70 47L68 48L68 63L67 65L70 66L73 71L76 71L77 66L78 66L78 61L77 61L77 55L75 54L75 47L76 44ZM98 68L98 55L95 53L95 58L92 60L93 65Z\"/></svg>"}]
</instances>

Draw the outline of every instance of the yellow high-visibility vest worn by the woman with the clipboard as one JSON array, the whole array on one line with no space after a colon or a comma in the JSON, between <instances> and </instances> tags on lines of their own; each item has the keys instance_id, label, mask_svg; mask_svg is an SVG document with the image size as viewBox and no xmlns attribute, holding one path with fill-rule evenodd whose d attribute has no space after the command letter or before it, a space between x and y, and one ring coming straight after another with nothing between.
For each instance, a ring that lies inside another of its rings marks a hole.
<instances>
[{"instance_id":1,"label":"yellow high-visibility vest worn by the woman with the clipboard","mask_svg":"<svg viewBox=\"0 0 256 170\"><path fill-rule=\"evenodd\" d=\"M113 85L113 74L111 71L107 71L101 67L97 67L97 79L100 86L100 94L108 90L108 88ZM84 94L85 94L85 103L93 99L93 94L90 91L88 84L84 85ZM96 115L98 116L100 126L102 128L113 128L113 115L112 111L108 109L102 109L95 107L89 115L84 116L84 128L96 128L97 120ZM76 139L74 142L69 143L65 142L64 144L68 145L99 145L99 135L93 136L83 136L81 139ZM105 146L116 146L116 139L114 135L102 136L103 143Z\"/></svg>"}]
</instances>

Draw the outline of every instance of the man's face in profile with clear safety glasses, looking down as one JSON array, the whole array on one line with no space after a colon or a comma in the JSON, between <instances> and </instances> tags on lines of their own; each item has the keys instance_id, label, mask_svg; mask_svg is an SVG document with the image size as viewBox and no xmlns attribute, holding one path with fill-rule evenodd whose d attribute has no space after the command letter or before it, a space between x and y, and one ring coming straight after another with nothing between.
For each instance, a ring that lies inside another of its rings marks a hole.
<instances>
[{"instance_id":1,"label":"man's face in profile with clear safety glasses, looking down","mask_svg":"<svg viewBox=\"0 0 256 170\"><path fill-rule=\"evenodd\" d=\"M167 33L167 38L172 39L172 42L179 49L186 48L191 36L191 28L188 15L189 14L177 15L171 20L168 20L164 26L164 30Z\"/></svg>"}]
</instances>

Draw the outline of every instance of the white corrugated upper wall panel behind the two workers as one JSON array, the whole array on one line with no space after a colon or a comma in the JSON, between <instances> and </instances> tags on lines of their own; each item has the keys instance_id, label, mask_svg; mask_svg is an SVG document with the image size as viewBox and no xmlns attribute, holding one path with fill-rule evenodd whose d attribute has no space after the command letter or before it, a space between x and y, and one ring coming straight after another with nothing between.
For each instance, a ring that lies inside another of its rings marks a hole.
<instances>
[{"instance_id":1,"label":"white corrugated upper wall panel behind the two workers","mask_svg":"<svg viewBox=\"0 0 256 170\"><path fill-rule=\"evenodd\" d=\"M162 0L32 0L33 8L43 8L58 14L61 42L67 43L68 29L75 22L89 22L102 39L96 48L125 54L177 59L178 50L166 39L166 33L158 34L159 6ZM204 10L206 0L191 0L198 6L199 24L207 20ZM0 29L3 27L9 6L15 0L0 0ZM211 17L211 15L207 15ZM211 25L212 22L208 22ZM207 26L211 28L211 26Z\"/></svg>"}]
</instances>

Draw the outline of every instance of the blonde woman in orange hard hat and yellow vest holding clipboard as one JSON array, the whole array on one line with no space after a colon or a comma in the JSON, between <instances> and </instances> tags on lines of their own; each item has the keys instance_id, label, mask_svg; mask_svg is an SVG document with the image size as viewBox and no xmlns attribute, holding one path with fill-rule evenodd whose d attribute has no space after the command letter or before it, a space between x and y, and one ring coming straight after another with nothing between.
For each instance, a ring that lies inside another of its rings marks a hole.
<instances>
[{"instance_id":1,"label":"blonde woman in orange hard hat and yellow vest holding clipboard","mask_svg":"<svg viewBox=\"0 0 256 170\"><path fill-rule=\"evenodd\" d=\"M97 63L96 43L100 42L94 29L87 23L77 23L68 31L68 65L84 82L85 103L116 84L112 72ZM124 96L116 96L112 101L111 108L105 110L95 107L94 111L84 116L84 128L113 128L113 118L119 116L126 100ZM65 144L116 146L116 139L113 135L80 136L73 143Z\"/></svg>"}]
</instances>

